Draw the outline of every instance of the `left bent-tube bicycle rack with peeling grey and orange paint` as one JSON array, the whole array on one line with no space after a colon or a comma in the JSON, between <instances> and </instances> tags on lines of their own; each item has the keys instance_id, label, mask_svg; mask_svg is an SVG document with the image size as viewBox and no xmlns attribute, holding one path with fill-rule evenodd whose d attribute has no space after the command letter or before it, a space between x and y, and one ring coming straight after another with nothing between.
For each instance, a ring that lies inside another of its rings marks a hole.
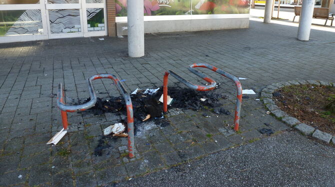
<instances>
[{"instance_id":1,"label":"left bent-tube bicycle rack with peeling grey and orange paint","mask_svg":"<svg viewBox=\"0 0 335 187\"><path fill-rule=\"evenodd\" d=\"M134 120L133 120L133 111L132 111L132 103L131 103L130 95L125 90L125 88L122 85L122 83L120 82L120 80L113 74L95 74L95 75L87 78L87 86L88 86L88 92L89 92L90 100L88 102L84 103L84 104L79 104L79 105L67 105L67 104L64 103L64 88L63 88L63 85L61 83L59 83L58 92L57 92L57 105L58 105L59 109L61 110L60 112L61 112L61 120L62 120L62 124L63 124L63 129L66 130L67 129L67 124L68 124L67 123L67 113L66 112L83 111L83 110L89 109L92 106L94 106L94 104L96 103L96 95L95 95L95 92L94 92L94 88L92 86L92 80L100 79L100 78L110 78L110 79L112 79L114 81L118 91L121 93L121 95L123 96L123 98L125 100L125 105L126 105L126 108L127 108L127 123L128 123L128 156L129 157L134 157L134 149L133 149L134 148L134 129L133 129L133 121Z\"/></svg>"}]
</instances>

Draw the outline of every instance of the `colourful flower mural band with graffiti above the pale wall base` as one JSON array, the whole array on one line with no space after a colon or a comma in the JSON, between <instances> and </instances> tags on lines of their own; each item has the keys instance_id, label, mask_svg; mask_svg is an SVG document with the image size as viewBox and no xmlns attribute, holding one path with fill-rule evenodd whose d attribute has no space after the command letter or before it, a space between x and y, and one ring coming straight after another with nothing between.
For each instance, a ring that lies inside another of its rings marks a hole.
<instances>
[{"instance_id":1,"label":"colourful flower mural band with graffiti above the pale wall base","mask_svg":"<svg viewBox=\"0 0 335 187\"><path fill-rule=\"evenodd\" d=\"M249 13L248 0L143 0L144 15ZM127 16L127 0L116 0L116 16Z\"/></svg>"}]
</instances>

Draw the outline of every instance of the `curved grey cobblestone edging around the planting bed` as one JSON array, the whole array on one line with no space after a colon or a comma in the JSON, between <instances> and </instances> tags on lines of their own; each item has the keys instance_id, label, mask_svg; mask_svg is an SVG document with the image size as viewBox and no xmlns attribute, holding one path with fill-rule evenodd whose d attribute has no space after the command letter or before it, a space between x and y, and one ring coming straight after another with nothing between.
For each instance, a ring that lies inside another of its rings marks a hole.
<instances>
[{"instance_id":1,"label":"curved grey cobblestone edging around the planting bed","mask_svg":"<svg viewBox=\"0 0 335 187\"><path fill-rule=\"evenodd\" d=\"M335 144L335 136L332 136L329 133L322 132L318 129L315 130L314 127L309 126L305 123L300 122L295 117L288 116L286 112L280 110L280 108L272 100L272 93L276 89L280 89L283 86L287 85L303 85L303 84L313 84L313 85L329 85L335 87L335 84L331 82L319 81L319 80L289 80L281 81L277 83L272 83L267 85L261 90L260 99L265 104L266 108L278 119L288 124L290 127L293 127L299 130L304 135L311 135L316 139L319 139L323 142L329 143L330 141Z\"/></svg>"}]
</instances>

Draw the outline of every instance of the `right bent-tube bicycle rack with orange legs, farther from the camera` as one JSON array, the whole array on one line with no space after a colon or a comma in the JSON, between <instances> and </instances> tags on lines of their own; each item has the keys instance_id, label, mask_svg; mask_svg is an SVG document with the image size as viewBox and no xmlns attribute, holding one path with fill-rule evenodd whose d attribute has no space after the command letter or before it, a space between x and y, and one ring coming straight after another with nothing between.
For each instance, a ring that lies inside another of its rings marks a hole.
<instances>
[{"instance_id":1,"label":"right bent-tube bicycle rack with orange legs, farther from the camera","mask_svg":"<svg viewBox=\"0 0 335 187\"><path fill-rule=\"evenodd\" d=\"M236 99L236 107L235 107L235 117L234 117L234 130L237 131L238 130L238 125L239 125L239 116L240 116L240 109L241 109L241 104L242 104L242 86L241 83L239 82L238 78L230 73L227 73L213 65L209 65L206 63L193 63L190 64L188 66L188 70L190 70L192 73L194 73L195 75L199 76L200 78L202 78L203 80L207 81L208 83L210 83L209 85L196 85L196 84L192 84L191 82L185 80L184 78L182 78L181 76L179 76L178 74L176 74L175 72L171 71L171 70L167 70L165 71L164 74L164 79L163 79L163 111L166 112L167 111L167 81L168 81L168 75L171 74L174 78L176 78L177 80L179 80L181 83L185 84L187 87L191 88L191 89L196 89L199 91L208 91L211 89L214 89L216 86L216 82L205 76L204 74L200 73L199 71L195 70L194 67L205 67L208 68L212 71L217 72L218 74L229 78L230 80L232 80L235 85L236 85L236 89L237 89L237 99Z\"/></svg>"}]
</instances>

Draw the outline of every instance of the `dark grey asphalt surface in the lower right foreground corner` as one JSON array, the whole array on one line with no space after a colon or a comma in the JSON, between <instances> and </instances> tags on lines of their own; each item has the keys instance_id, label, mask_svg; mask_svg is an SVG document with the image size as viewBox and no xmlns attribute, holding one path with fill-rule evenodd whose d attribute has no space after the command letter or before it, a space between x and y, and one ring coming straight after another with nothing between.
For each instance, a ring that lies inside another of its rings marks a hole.
<instances>
[{"instance_id":1,"label":"dark grey asphalt surface in the lower right foreground corner","mask_svg":"<svg viewBox=\"0 0 335 187\"><path fill-rule=\"evenodd\" d=\"M335 148L283 132L113 186L335 186Z\"/></svg>"}]
</instances>

